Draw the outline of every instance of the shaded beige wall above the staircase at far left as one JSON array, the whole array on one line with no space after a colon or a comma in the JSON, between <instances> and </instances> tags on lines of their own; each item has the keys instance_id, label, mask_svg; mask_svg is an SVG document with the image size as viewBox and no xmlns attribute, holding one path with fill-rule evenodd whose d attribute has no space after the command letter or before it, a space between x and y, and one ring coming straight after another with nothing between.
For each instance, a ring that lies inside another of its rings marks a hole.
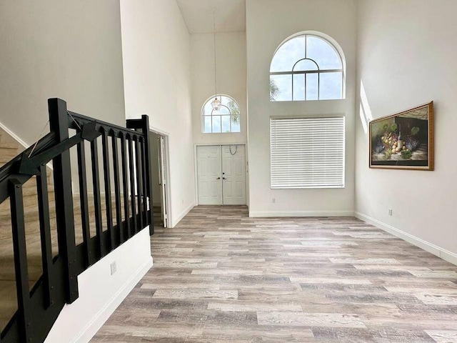
<instances>
[{"instance_id":1,"label":"shaded beige wall above the staircase at far left","mask_svg":"<svg viewBox=\"0 0 457 343\"><path fill-rule=\"evenodd\" d=\"M2 0L0 46L0 122L26 144L48 98L125 126L119 1Z\"/></svg>"}]
</instances>

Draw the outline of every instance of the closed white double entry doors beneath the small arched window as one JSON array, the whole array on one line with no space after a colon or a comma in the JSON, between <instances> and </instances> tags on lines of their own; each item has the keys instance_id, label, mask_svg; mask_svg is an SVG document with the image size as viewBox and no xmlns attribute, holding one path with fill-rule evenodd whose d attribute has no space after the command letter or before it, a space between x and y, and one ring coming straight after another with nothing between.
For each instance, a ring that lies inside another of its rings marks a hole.
<instances>
[{"instance_id":1,"label":"closed white double entry doors beneath the small arched window","mask_svg":"<svg viewBox=\"0 0 457 343\"><path fill-rule=\"evenodd\" d=\"M199 205L246 205L246 146L197 146Z\"/></svg>"}]
</instances>

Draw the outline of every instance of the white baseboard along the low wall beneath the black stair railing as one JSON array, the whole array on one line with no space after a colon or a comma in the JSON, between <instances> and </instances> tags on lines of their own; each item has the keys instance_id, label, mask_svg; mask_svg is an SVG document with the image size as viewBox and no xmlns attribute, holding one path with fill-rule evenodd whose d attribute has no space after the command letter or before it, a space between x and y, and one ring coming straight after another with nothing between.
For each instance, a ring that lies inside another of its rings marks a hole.
<instances>
[{"instance_id":1,"label":"white baseboard along the low wall beneath the black stair railing","mask_svg":"<svg viewBox=\"0 0 457 343\"><path fill-rule=\"evenodd\" d=\"M152 257L149 261L144 262L144 264L139 267L135 274L119 289L119 292L114 294L114 296L109 299L109 302L106 302L104 307L91 319L89 324L87 324L84 329L79 332L79 334L71 340L70 343L86 343L89 342L92 337L99 331L103 326L106 320L109 319L111 314L119 307L121 302L129 295L132 289L138 284L142 277L151 269L152 267Z\"/></svg>"}]
</instances>

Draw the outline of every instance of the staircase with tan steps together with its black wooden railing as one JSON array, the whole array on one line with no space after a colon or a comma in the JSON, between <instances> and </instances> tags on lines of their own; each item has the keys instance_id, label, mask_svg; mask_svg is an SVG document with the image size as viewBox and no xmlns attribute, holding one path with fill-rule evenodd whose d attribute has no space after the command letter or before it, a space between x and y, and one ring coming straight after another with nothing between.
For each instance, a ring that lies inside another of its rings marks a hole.
<instances>
[{"instance_id":1,"label":"staircase with tan steps together with its black wooden railing","mask_svg":"<svg viewBox=\"0 0 457 343\"><path fill-rule=\"evenodd\" d=\"M31 156L0 129L1 343L44 342L81 272L149 224L154 233L148 117L125 128L49 99L49 119Z\"/></svg>"}]
</instances>

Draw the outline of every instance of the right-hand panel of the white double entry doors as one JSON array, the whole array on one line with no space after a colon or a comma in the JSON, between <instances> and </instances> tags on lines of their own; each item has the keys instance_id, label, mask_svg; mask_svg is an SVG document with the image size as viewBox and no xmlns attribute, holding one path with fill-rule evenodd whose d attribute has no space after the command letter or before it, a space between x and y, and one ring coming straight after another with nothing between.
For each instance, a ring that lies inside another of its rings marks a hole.
<instances>
[{"instance_id":1,"label":"right-hand panel of the white double entry doors","mask_svg":"<svg viewBox=\"0 0 457 343\"><path fill-rule=\"evenodd\" d=\"M222 147L224 205L246 205L246 151L244 145Z\"/></svg>"}]
</instances>

